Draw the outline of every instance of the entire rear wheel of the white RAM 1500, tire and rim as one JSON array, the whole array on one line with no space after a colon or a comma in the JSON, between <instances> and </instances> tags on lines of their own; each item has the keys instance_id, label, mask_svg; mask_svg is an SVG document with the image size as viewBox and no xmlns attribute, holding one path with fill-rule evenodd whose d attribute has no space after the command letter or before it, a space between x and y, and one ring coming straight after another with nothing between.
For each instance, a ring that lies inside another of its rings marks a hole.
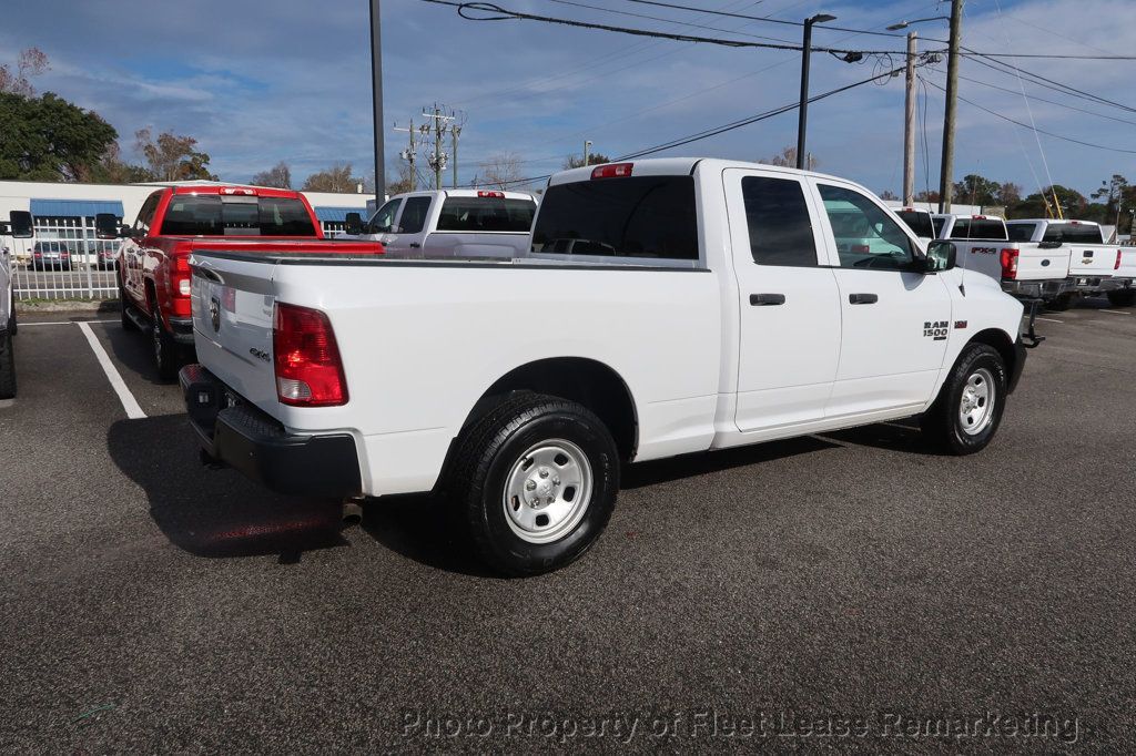
<instances>
[{"instance_id":1,"label":"entire rear wheel of the white RAM 1500, tire and rim","mask_svg":"<svg viewBox=\"0 0 1136 756\"><path fill-rule=\"evenodd\" d=\"M504 574L540 574L579 558L603 532L619 453L586 408L519 393L462 434L451 485L478 555Z\"/></svg>"}]
</instances>

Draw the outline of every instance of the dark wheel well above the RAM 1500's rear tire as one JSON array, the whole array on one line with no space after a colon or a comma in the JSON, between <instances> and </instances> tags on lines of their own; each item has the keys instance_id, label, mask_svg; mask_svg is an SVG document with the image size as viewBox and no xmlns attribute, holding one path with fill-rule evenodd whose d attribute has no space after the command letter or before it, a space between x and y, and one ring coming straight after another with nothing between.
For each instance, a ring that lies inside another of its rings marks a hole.
<instances>
[{"instance_id":1,"label":"dark wheel well above the RAM 1500's rear tire","mask_svg":"<svg viewBox=\"0 0 1136 756\"><path fill-rule=\"evenodd\" d=\"M466 418L462 429L477 420L504 395L535 392L579 402L611 431L624 460L635 456L638 420L630 389L615 370L585 358L556 358L521 366L496 380Z\"/></svg>"}]
</instances>

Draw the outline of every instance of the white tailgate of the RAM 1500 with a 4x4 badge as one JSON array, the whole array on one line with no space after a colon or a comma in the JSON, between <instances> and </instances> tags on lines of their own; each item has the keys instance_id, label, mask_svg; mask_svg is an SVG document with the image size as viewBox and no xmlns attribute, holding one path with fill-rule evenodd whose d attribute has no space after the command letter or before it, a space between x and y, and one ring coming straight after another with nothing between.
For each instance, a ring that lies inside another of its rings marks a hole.
<instances>
[{"instance_id":1,"label":"white tailgate of the RAM 1500 with a 4x4 badge","mask_svg":"<svg viewBox=\"0 0 1136 756\"><path fill-rule=\"evenodd\" d=\"M190 266L199 360L237 394L278 417L273 366L275 264L195 254Z\"/></svg>"}]
</instances>

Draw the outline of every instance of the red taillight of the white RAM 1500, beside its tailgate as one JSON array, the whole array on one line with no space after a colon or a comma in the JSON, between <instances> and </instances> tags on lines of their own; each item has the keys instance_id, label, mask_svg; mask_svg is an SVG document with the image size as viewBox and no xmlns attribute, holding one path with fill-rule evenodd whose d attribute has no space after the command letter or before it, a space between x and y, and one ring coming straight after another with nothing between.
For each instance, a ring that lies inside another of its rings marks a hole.
<instances>
[{"instance_id":1,"label":"red taillight of the white RAM 1500, beside its tailgate","mask_svg":"<svg viewBox=\"0 0 1136 756\"><path fill-rule=\"evenodd\" d=\"M337 406L348 402L340 347L327 316L294 304L273 314L276 395L292 406Z\"/></svg>"}]
</instances>

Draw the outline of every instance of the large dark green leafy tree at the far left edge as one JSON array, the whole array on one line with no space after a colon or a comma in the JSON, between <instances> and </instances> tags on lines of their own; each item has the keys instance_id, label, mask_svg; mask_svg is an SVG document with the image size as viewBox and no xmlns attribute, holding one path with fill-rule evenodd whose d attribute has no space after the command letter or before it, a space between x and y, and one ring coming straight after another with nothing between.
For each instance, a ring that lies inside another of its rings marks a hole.
<instances>
[{"instance_id":1,"label":"large dark green leafy tree at the far left edge","mask_svg":"<svg viewBox=\"0 0 1136 756\"><path fill-rule=\"evenodd\" d=\"M87 180L117 137L97 112L52 92L0 92L0 178Z\"/></svg>"}]
</instances>

